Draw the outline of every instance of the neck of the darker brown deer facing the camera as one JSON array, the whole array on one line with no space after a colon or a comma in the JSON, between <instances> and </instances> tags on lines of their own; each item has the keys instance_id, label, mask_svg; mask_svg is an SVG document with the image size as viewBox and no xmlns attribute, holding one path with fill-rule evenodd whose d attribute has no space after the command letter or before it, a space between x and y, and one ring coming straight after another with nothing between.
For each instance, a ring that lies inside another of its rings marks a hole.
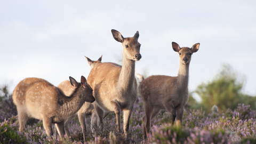
<instances>
[{"instance_id":1,"label":"neck of the darker brown deer facing the camera","mask_svg":"<svg viewBox=\"0 0 256 144\"><path fill-rule=\"evenodd\" d=\"M179 89L183 89L188 87L188 69L189 63L187 65L180 62L179 72L178 72L178 87Z\"/></svg>"}]
</instances>

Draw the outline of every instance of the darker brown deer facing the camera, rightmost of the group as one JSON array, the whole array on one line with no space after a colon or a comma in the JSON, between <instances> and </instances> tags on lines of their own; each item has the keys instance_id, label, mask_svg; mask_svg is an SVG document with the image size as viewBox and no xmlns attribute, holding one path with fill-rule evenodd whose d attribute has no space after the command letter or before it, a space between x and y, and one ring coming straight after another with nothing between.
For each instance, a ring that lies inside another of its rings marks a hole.
<instances>
[{"instance_id":1,"label":"darker brown deer facing the camera, rightmost of the group","mask_svg":"<svg viewBox=\"0 0 256 144\"><path fill-rule=\"evenodd\" d=\"M139 93L143 101L145 115L142 117L143 138L147 139L150 132L151 119L160 110L167 110L172 115L172 125L176 118L177 126L182 124L183 108L188 101L188 72L191 55L198 51L199 43L191 48L182 47L172 42L172 48L179 54L178 76L152 75L140 79Z\"/></svg>"}]
</instances>

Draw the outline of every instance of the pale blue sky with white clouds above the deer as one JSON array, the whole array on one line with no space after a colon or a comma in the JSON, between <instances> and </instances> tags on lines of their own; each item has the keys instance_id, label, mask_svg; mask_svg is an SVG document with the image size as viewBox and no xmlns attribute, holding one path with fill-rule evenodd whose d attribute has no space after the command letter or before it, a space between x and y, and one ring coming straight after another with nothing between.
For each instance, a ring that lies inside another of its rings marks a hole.
<instances>
[{"instance_id":1,"label":"pale blue sky with white clouds above the deer","mask_svg":"<svg viewBox=\"0 0 256 144\"><path fill-rule=\"evenodd\" d=\"M78 82L92 60L118 62L124 37L139 31L142 58L135 72L177 76L181 47L200 43L189 68L189 91L210 82L228 64L246 77L243 92L256 95L256 1L2 1L0 85L10 91L26 77L57 86ZM145 72L146 71L146 72Z\"/></svg>"}]
</instances>

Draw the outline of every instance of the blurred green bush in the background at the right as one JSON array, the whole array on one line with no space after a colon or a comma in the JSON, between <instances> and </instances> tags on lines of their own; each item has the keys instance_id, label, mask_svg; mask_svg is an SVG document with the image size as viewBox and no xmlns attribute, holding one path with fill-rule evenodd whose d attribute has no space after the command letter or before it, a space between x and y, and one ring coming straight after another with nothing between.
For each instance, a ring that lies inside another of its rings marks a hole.
<instances>
[{"instance_id":1,"label":"blurred green bush in the background at the right","mask_svg":"<svg viewBox=\"0 0 256 144\"><path fill-rule=\"evenodd\" d=\"M223 65L220 73L211 82L202 83L197 87L197 93L202 101L200 106L211 112L213 105L218 106L219 111L226 111L228 108L235 109L238 103L245 103L255 108L256 97L243 94L244 80L229 65Z\"/></svg>"}]
</instances>

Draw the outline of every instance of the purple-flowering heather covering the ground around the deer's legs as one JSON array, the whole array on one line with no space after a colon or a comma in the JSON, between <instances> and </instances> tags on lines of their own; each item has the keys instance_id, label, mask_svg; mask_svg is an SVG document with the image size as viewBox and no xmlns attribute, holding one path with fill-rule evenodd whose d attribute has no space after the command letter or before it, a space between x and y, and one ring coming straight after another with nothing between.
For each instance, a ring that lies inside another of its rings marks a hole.
<instances>
[{"instance_id":1,"label":"purple-flowering heather covering the ground around the deer's legs","mask_svg":"<svg viewBox=\"0 0 256 144\"><path fill-rule=\"evenodd\" d=\"M87 143L142 143L141 117L143 104L140 97L134 103L130 121L129 137L116 132L115 114L105 118L103 131L94 137L90 130L90 117L86 118ZM15 107L12 107L15 111ZM9 109L8 109L9 110ZM1 111L4 111L2 108ZM83 143L83 133L78 118L69 124L74 141L70 139L49 140L42 121L32 121L25 132L19 132L15 126L15 115L7 117L0 124L1 143ZM121 115L122 119L122 115ZM171 115L161 111L152 121L150 143L254 143L256 141L256 110L249 105L239 104L236 109L223 113L205 114L202 109L184 111L182 127L170 125ZM123 127L122 127L123 129ZM99 130L97 130L99 131Z\"/></svg>"}]
</instances>

